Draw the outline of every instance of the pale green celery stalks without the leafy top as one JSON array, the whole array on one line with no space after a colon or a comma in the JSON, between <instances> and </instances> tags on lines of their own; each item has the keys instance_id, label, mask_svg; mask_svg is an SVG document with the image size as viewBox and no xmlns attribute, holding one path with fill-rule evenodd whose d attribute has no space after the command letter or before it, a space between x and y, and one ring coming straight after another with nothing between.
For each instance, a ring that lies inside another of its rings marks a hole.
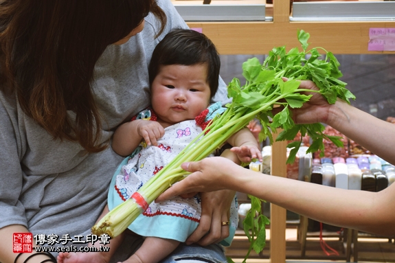
<instances>
[{"instance_id":1,"label":"pale green celery stalks without the leafy top","mask_svg":"<svg viewBox=\"0 0 395 263\"><path fill-rule=\"evenodd\" d=\"M271 106L281 98L282 96L280 95L254 111L244 108L242 110L236 110L238 113L234 113L232 104L228 105L223 115L215 117L212 124L207 126L206 130L203 130L177 157L170 161L153 178L148 180L137 192L144 197L144 200L148 204L152 203L170 185L182 180L184 176L188 175L188 172L180 168L181 163L185 161L199 161L209 156L216 148L224 144L229 137L234 135L234 133L245 128L251 119L256 117L257 113L271 109ZM205 135L207 130L209 131ZM111 210L109 214L106 214L102 220L92 227L92 233L98 236L106 233L112 238L118 236L142 212L142 207L133 198L130 198Z\"/></svg>"}]
</instances>

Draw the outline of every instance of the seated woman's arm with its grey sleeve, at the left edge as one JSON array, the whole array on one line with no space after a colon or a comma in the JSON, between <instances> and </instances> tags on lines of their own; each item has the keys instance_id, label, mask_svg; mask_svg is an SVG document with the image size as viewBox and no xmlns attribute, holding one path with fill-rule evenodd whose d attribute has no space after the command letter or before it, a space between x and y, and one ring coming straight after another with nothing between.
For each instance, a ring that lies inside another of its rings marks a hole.
<instances>
[{"instance_id":1,"label":"seated woman's arm with its grey sleeve, at the left edge","mask_svg":"<svg viewBox=\"0 0 395 263\"><path fill-rule=\"evenodd\" d=\"M14 102L16 104L16 102ZM13 252L13 233L29 233L25 207L19 201L23 192L23 171L20 159L23 156L23 144L18 141L20 133L16 107L12 100L0 91L0 262L14 262L18 253ZM24 123L26 124L26 123ZM17 262L23 262L29 253L21 255ZM46 255L37 255L32 263L47 260Z\"/></svg>"}]
</instances>

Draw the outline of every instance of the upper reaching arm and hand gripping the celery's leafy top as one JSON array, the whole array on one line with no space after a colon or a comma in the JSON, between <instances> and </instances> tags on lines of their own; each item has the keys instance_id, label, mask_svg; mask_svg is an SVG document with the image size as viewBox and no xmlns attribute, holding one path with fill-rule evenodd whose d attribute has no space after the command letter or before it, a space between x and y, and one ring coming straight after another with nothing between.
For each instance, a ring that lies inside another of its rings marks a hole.
<instances>
[{"instance_id":1,"label":"upper reaching arm and hand gripping the celery's leafy top","mask_svg":"<svg viewBox=\"0 0 395 263\"><path fill-rule=\"evenodd\" d=\"M309 80L302 81L300 87L318 89ZM328 124L389 163L395 164L395 140L392 139L395 134L394 124L365 113L343 100L338 99L335 104L328 104L319 93L310 94L313 95L310 101L302 108L292 110L296 124Z\"/></svg>"}]
</instances>

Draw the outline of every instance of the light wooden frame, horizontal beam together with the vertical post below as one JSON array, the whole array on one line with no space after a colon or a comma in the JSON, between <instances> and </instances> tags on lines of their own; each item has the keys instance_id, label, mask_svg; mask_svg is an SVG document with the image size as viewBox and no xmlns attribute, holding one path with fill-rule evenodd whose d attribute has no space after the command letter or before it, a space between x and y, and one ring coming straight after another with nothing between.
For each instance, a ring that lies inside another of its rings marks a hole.
<instances>
[{"instance_id":1,"label":"light wooden frame, horizontal beam together with the vertical post below","mask_svg":"<svg viewBox=\"0 0 395 263\"><path fill-rule=\"evenodd\" d=\"M333 54L395 54L368 51L371 27L395 27L395 21L291 22L290 1L273 1L273 21L268 22L199 22L199 27L215 43L220 54L269 54L273 47L300 47L297 30L311 34L313 47L324 47ZM272 174L286 176L286 143L273 144ZM271 262L286 261L286 210L271 206Z\"/></svg>"}]
</instances>

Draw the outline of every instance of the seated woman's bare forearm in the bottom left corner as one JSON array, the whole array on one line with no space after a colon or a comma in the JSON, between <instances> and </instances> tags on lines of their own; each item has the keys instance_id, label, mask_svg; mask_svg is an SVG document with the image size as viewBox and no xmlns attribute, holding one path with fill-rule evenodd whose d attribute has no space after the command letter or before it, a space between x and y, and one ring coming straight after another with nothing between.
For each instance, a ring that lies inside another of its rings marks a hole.
<instances>
[{"instance_id":1,"label":"seated woman's bare forearm in the bottom left corner","mask_svg":"<svg viewBox=\"0 0 395 263\"><path fill-rule=\"evenodd\" d=\"M0 229L0 262L2 263L13 263L18 253L14 253L12 250L12 234L13 233L28 233L29 231L22 225L10 225ZM33 242L34 243L34 242ZM34 246L36 247L36 246ZM33 249L32 253L23 253L19 256L16 263L24 262L27 257L36 253ZM29 260L29 263L43 262L48 260L47 255L36 255Z\"/></svg>"}]
</instances>

